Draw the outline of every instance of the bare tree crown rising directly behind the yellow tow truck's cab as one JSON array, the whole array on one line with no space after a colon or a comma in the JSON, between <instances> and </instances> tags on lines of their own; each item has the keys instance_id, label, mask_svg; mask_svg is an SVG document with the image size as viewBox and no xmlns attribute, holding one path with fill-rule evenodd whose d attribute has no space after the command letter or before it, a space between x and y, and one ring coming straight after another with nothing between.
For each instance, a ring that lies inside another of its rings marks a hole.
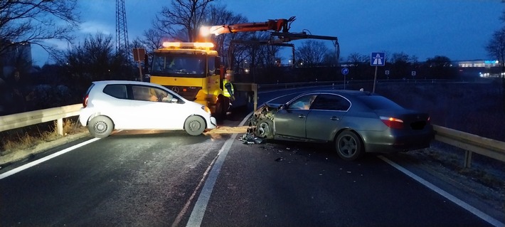
<instances>
[{"instance_id":1,"label":"bare tree crown rising directly behind the yellow tow truck's cab","mask_svg":"<svg viewBox=\"0 0 505 227\"><path fill-rule=\"evenodd\" d=\"M172 0L171 7L164 7L159 16L156 15L154 26L173 38L196 41L199 26L206 19L206 9L211 1L213 0ZM181 30L187 37L180 37Z\"/></svg>"}]
</instances>

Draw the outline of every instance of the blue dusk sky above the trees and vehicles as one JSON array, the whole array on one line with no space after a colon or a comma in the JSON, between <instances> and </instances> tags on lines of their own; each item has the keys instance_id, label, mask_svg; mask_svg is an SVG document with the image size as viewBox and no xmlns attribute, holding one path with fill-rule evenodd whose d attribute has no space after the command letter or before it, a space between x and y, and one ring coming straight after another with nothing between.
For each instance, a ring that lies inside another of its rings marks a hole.
<instances>
[{"instance_id":1,"label":"blue dusk sky above the trees and vehicles","mask_svg":"<svg viewBox=\"0 0 505 227\"><path fill-rule=\"evenodd\" d=\"M129 41L152 27L152 20L169 0L125 0ZM491 60L484 46L504 26L500 0L216 0L250 22L289 19L290 32L307 29L312 35L339 38L341 57L350 53L406 53L418 60L447 56L451 60ZM79 1L83 23L78 37L98 31L115 36L115 0ZM82 38L82 39L83 39ZM303 41L294 41L301 46ZM331 47L330 41L328 46ZM58 48L68 44L51 41ZM78 43L78 41L76 41ZM81 41L82 43L82 41ZM33 46L36 65L48 55Z\"/></svg>"}]
</instances>

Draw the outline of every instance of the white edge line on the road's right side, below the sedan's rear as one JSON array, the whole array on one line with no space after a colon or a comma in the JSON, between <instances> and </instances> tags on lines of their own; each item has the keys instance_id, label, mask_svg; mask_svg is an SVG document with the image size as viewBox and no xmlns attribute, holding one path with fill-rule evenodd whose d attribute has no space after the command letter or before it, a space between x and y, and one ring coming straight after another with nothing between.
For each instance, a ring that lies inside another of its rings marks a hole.
<instances>
[{"instance_id":1,"label":"white edge line on the road's right side, below the sedan's rear","mask_svg":"<svg viewBox=\"0 0 505 227\"><path fill-rule=\"evenodd\" d=\"M435 191L436 193L440 194L441 196L444 196L446 199L449 199L452 201L454 204L457 204L458 206L461 206L467 211L470 211L473 213L475 216L482 218L482 220L487 221L493 226L505 226L504 223L501 223L500 221L496 220L495 218L487 215L487 213L484 213L482 211L479 211L479 209L465 203L461 199L457 199L456 196L453 196L452 194L449 194L447 191L444 191L443 189L440 189L439 187L435 186L434 184L431 184L430 182L426 181L425 179L422 179L420 176L413 174L413 172L408 171L407 169L400 167L399 164L396 164L395 162L391 161L390 159L387 159L386 157L383 157L382 155L378 156L379 159L382 159L384 162L390 164L391 166L395 167L396 169L400 170L403 172L403 174L410 176L410 178L415 179L422 185L426 186L428 189L431 189L432 191Z\"/></svg>"}]
</instances>

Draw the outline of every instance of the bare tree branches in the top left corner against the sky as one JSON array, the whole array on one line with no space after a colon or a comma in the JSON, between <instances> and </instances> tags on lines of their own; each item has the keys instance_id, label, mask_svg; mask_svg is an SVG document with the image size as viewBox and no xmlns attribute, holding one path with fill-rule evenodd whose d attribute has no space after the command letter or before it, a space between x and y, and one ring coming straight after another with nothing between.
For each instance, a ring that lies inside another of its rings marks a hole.
<instances>
[{"instance_id":1,"label":"bare tree branches in the top left corner against the sky","mask_svg":"<svg viewBox=\"0 0 505 227\"><path fill-rule=\"evenodd\" d=\"M70 32L79 22L75 6L76 0L0 1L0 54L19 43L36 44L53 54L55 48L43 41L73 38Z\"/></svg>"}]
</instances>

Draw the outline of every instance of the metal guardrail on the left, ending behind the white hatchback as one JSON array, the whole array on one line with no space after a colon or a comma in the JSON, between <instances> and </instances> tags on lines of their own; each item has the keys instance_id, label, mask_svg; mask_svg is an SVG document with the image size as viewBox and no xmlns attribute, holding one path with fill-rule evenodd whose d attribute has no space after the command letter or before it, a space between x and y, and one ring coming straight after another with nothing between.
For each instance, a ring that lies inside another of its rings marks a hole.
<instances>
[{"instance_id":1,"label":"metal guardrail on the left, ending behind the white hatchback","mask_svg":"<svg viewBox=\"0 0 505 227\"><path fill-rule=\"evenodd\" d=\"M82 106L83 104L74 104L0 116L0 132L56 120L58 134L63 135L63 118L79 115Z\"/></svg>"}]
</instances>

